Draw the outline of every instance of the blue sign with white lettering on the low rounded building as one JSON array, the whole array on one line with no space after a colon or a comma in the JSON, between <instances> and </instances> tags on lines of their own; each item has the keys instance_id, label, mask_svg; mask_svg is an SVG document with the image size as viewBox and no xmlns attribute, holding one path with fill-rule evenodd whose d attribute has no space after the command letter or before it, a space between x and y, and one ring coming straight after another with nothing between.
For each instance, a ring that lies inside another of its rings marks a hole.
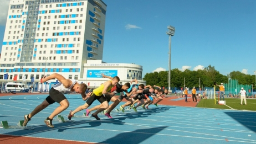
<instances>
[{"instance_id":1,"label":"blue sign with white lettering on the low rounded building","mask_svg":"<svg viewBox=\"0 0 256 144\"><path fill-rule=\"evenodd\" d=\"M101 73L106 76L115 77L117 76L117 70L87 70L88 78L102 78Z\"/></svg>"}]
</instances>

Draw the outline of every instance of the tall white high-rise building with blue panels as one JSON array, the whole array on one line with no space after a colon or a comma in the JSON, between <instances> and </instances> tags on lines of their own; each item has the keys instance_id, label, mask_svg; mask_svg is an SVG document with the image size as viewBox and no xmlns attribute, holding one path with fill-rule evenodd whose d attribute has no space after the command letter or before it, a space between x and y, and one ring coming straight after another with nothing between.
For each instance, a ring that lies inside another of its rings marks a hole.
<instances>
[{"instance_id":1,"label":"tall white high-rise building with blue panels","mask_svg":"<svg viewBox=\"0 0 256 144\"><path fill-rule=\"evenodd\" d=\"M105 17L101 0L11 0L0 81L6 73L18 82L53 72L83 78L84 63L103 58Z\"/></svg>"}]
</instances>

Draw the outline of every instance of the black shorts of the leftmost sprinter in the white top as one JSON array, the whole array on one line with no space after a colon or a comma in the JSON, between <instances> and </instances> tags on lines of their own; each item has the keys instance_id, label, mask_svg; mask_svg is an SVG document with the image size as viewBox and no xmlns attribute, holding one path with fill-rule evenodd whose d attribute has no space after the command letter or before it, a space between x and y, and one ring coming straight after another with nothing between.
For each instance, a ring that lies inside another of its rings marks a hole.
<instances>
[{"instance_id":1,"label":"black shorts of the leftmost sprinter in the white top","mask_svg":"<svg viewBox=\"0 0 256 144\"><path fill-rule=\"evenodd\" d=\"M49 96L45 99L49 104L53 104L55 102L60 103L62 100L66 99L64 94L60 93L59 90L54 88L50 89Z\"/></svg>"}]
</instances>

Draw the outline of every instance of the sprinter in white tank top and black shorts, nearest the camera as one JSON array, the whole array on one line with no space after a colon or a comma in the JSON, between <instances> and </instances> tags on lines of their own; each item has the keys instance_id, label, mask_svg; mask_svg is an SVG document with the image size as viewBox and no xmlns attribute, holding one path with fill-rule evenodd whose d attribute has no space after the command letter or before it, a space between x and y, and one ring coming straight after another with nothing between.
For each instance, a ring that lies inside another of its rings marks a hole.
<instances>
[{"instance_id":1,"label":"sprinter in white tank top and black shorts, nearest the camera","mask_svg":"<svg viewBox=\"0 0 256 144\"><path fill-rule=\"evenodd\" d=\"M58 115L59 113L62 113L62 111L64 111L69 106L69 102L66 99L66 97L63 95L63 93L71 93L71 92L80 93L82 98L86 100L85 91L87 89L87 86L85 83L79 84L74 79L65 79L62 75L58 73L51 74L48 77L44 76L42 78L42 82L46 82L49 79L55 79L55 78L58 79L59 83L50 89L49 96L44 100L42 104L38 105L30 114L24 116L23 126L27 126L28 121L35 114L39 113L48 105L57 102L60 104L60 106L56 108L47 119L44 120L45 124L48 127L53 128L54 125L52 124L52 120L54 116Z\"/></svg>"}]
</instances>

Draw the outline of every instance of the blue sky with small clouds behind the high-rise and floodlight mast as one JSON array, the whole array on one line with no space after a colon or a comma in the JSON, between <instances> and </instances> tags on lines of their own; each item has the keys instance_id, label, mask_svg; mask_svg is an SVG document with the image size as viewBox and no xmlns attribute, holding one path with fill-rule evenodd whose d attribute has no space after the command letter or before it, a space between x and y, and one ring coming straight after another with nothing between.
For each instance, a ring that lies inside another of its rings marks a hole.
<instances>
[{"instance_id":1,"label":"blue sky with small clouds behind the high-rise and floodlight mast","mask_svg":"<svg viewBox=\"0 0 256 144\"><path fill-rule=\"evenodd\" d=\"M214 66L221 74L256 71L256 1L254 0L103 0L107 4L103 61L135 63L144 76L171 69L202 70ZM0 45L8 1L1 0ZM1 47L0 47L1 49Z\"/></svg>"}]
</instances>

